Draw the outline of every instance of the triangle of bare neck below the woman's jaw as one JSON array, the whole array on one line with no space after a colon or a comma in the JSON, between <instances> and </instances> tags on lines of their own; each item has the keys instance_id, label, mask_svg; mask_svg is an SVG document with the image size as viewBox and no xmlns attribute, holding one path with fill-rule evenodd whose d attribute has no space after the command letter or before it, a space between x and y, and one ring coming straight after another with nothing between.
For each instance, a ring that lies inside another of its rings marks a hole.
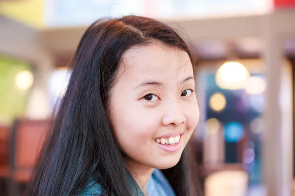
<instances>
[{"instance_id":1,"label":"triangle of bare neck below the woman's jaw","mask_svg":"<svg viewBox=\"0 0 295 196\"><path fill-rule=\"evenodd\" d=\"M146 188L148 185L148 180L149 180L152 172L154 171L154 168L143 166L142 164L138 164L138 163L134 163L134 162L133 163L128 162L128 166L131 169L130 172L131 172L133 178L135 179L137 184L140 186L140 188L142 189L142 191L146 195Z\"/></svg>"}]
</instances>

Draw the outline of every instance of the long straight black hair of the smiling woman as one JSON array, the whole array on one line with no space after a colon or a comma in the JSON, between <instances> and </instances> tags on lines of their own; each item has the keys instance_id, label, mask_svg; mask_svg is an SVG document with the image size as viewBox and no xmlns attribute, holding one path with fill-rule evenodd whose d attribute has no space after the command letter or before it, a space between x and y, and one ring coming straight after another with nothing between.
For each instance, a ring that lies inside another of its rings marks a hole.
<instances>
[{"instance_id":1,"label":"long straight black hair of the smiling woman","mask_svg":"<svg viewBox=\"0 0 295 196\"><path fill-rule=\"evenodd\" d=\"M172 27L157 20L124 16L93 23L81 38L70 65L71 77L32 172L26 196L79 193L92 174L102 177L107 195L131 196L126 165L108 118L108 100L122 54L153 42L181 49L187 44ZM195 195L186 149L178 164L164 170L177 196Z\"/></svg>"}]
</instances>

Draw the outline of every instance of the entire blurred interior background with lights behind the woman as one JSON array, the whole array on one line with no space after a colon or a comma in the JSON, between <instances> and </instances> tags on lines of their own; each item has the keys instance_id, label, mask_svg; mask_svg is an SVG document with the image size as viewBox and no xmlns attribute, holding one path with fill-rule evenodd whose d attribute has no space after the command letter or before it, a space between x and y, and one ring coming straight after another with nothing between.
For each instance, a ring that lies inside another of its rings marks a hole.
<instances>
[{"instance_id":1,"label":"entire blurred interior background with lights behind the woman","mask_svg":"<svg viewBox=\"0 0 295 196\"><path fill-rule=\"evenodd\" d=\"M198 55L205 196L295 196L295 0L0 0L0 196L21 194L96 19L162 19Z\"/></svg>"}]
</instances>

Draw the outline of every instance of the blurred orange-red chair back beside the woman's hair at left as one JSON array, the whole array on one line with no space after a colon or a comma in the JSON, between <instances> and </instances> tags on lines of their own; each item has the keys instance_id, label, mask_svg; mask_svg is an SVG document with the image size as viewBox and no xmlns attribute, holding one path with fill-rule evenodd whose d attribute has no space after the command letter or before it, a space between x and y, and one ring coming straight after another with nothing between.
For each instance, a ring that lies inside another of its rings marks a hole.
<instances>
[{"instance_id":1,"label":"blurred orange-red chair back beside the woman's hair at left","mask_svg":"<svg viewBox=\"0 0 295 196\"><path fill-rule=\"evenodd\" d=\"M19 196L19 185L29 182L30 172L43 145L47 121L18 119L10 138L9 196Z\"/></svg>"}]
</instances>

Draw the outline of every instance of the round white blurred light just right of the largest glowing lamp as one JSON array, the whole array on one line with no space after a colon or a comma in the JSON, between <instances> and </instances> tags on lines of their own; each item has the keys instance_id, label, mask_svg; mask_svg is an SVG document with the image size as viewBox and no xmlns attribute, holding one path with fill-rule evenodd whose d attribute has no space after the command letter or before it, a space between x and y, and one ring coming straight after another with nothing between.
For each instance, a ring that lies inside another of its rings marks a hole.
<instances>
[{"instance_id":1,"label":"round white blurred light just right of the largest glowing lamp","mask_svg":"<svg viewBox=\"0 0 295 196\"><path fill-rule=\"evenodd\" d=\"M266 90L266 81L260 76L250 76L245 84L245 91L249 94L262 94Z\"/></svg>"}]
</instances>

